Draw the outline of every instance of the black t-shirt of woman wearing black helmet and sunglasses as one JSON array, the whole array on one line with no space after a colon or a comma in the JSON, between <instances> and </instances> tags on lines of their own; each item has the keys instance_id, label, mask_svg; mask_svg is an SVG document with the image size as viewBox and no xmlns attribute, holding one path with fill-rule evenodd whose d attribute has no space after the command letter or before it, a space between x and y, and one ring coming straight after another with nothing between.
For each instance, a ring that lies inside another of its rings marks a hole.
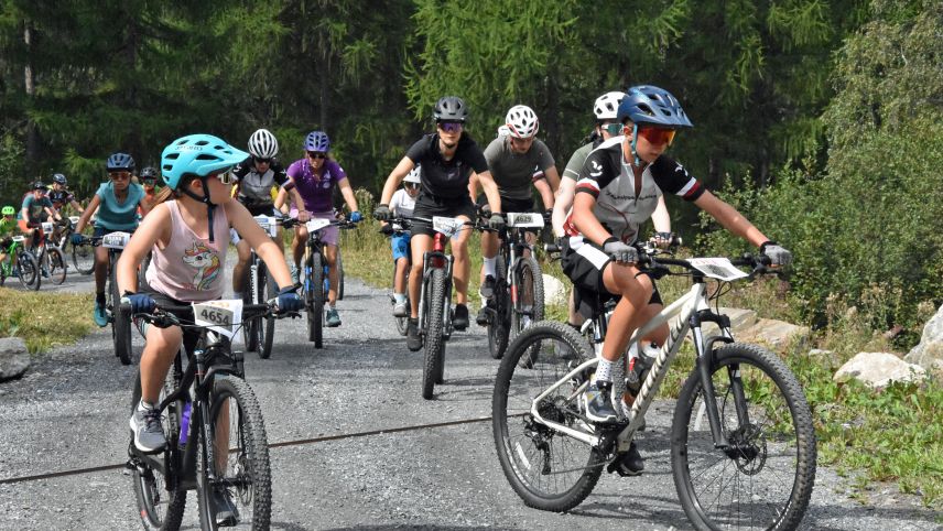
<instances>
[{"instance_id":1,"label":"black t-shirt of woman wearing black helmet and sunglasses","mask_svg":"<svg viewBox=\"0 0 943 531\"><path fill-rule=\"evenodd\" d=\"M481 148L466 133L458 139L458 148L451 161L442 158L438 134L425 134L407 151L414 164L422 166L422 192L424 195L443 199L468 196L468 180L472 172L488 171L488 161Z\"/></svg>"}]
</instances>

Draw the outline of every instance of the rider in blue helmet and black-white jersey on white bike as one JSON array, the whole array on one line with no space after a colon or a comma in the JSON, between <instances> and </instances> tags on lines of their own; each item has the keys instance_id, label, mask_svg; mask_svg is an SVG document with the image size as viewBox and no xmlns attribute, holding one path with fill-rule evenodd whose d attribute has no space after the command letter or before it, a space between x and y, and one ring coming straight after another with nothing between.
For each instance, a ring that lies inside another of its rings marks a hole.
<instances>
[{"instance_id":1,"label":"rider in blue helmet and black-white jersey on white bike","mask_svg":"<svg viewBox=\"0 0 943 531\"><path fill-rule=\"evenodd\" d=\"M681 104L668 90L651 85L631 87L616 116L620 136L593 150L579 171L573 202L574 230L564 240L563 271L581 292L620 297L609 319L595 379L582 397L594 422L613 422L631 405L628 393L613 391L621 382L620 362L628 340L661 304L650 277L636 267L639 226L651 217L659 196L675 194L711 214L722 226L760 248L774 267L792 254L771 241L730 205L708 192L680 163L665 155L681 129L693 127ZM663 344L664 338L655 338ZM621 459L625 474L644 468L635 443Z\"/></svg>"}]
</instances>

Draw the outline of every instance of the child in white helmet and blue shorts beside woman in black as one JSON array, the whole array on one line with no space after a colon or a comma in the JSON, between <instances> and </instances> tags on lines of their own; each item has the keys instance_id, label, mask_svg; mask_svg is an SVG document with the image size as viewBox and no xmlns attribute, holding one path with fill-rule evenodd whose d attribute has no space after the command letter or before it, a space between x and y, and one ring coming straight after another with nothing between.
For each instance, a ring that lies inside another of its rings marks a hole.
<instances>
[{"instance_id":1,"label":"child in white helmet and blue shorts beside woman in black","mask_svg":"<svg viewBox=\"0 0 943 531\"><path fill-rule=\"evenodd\" d=\"M390 199L390 212L394 217L411 217L415 209L415 198L419 196L422 166L410 170L403 178L403 187L393 194ZM405 317L410 308L407 302L407 273L410 268L410 231L399 224L382 221L380 231L390 237L390 247L393 250L393 263L397 270L393 273L393 316Z\"/></svg>"}]
</instances>

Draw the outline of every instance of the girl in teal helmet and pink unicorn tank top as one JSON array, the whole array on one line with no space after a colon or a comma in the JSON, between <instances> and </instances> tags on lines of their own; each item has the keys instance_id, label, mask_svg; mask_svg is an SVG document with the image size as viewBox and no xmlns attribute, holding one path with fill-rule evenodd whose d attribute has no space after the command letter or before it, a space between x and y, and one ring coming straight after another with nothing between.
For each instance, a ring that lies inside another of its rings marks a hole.
<instances>
[{"instance_id":1,"label":"girl in teal helmet and pink unicorn tank top","mask_svg":"<svg viewBox=\"0 0 943 531\"><path fill-rule=\"evenodd\" d=\"M166 189L163 202L141 223L117 264L122 302L131 313L153 312L161 306L186 306L193 302L217 300L225 286L226 254L230 228L247 241L269 268L281 290L279 308L299 311L301 299L294 292L281 249L256 223L249 210L229 194L229 170L249 154L209 134L191 134L170 143L161 155L161 174ZM173 193L173 197L171 194ZM138 292L138 268L148 253L152 259L145 272L147 292ZM180 314L193 319L193 312ZM180 327L149 327L141 355L141 402L134 408L130 426L134 446L145 453L160 452L166 444L155 408L167 369L184 342ZM192 340L187 336L187 340ZM187 343L188 347L192 344ZM228 444L218 441L218 455ZM228 495L219 494L217 507L232 507ZM226 498L226 499L221 499ZM230 514L231 516L231 514ZM220 513L216 514L217 521ZM225 519L225 518L224 518Z\"/></svg>"}]
</instances>

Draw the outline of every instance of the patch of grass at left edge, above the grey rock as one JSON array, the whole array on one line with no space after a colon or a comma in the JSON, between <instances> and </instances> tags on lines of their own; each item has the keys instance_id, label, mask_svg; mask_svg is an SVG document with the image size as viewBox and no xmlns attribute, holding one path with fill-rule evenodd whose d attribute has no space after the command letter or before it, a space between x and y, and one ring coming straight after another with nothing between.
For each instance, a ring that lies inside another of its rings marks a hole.
<instances>
[{"instance_id":1,"label":"patch of grass at left edge, above the grey rock","mask_svg":"<svg viewBox=\"0 0 943 531\"><path fill-rule=\"evenodd\" d=\"M94 326L90 293L0 288L0 336L22 337L30 353L71 345Z\"/></svg>"}]
</instances>

